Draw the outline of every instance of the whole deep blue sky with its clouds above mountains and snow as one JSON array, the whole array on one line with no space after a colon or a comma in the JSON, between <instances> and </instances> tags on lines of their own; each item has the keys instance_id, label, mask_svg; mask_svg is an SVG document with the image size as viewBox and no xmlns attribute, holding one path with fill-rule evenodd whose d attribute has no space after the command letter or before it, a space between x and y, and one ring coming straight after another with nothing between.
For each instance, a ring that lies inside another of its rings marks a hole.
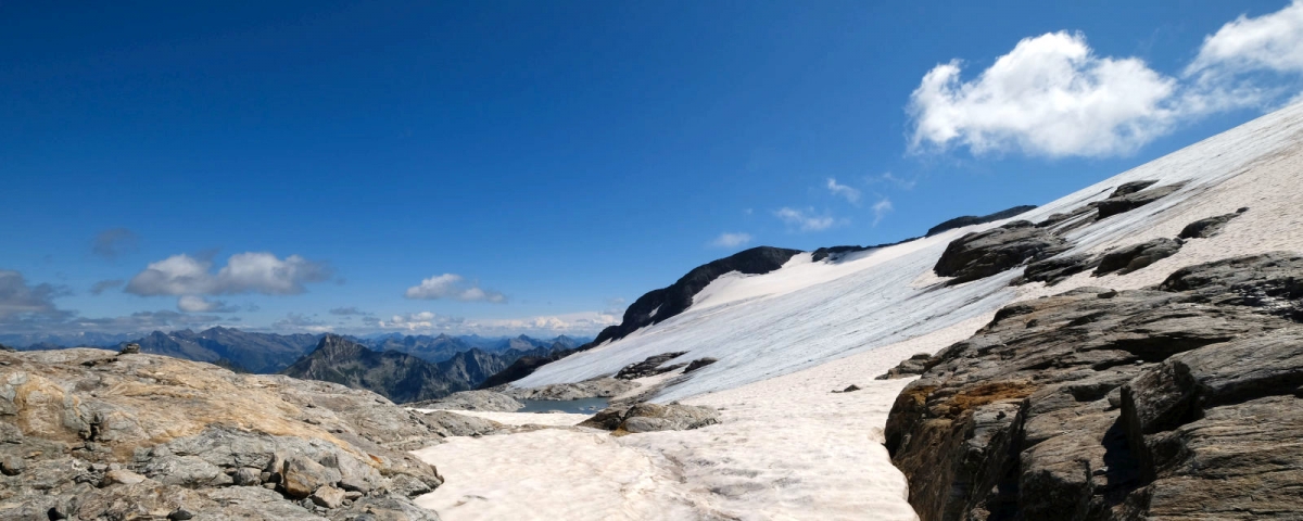
<instances>
[{"instance_id":1,"label":"whole deep blue sky with its clouds above mountains and snow","mask_svg":"<svg viewBox=\"0 0 1303 521\"><path fill-rule=\"evenodd\" d=\"M0 332L592 333L744 247L1053 201L1303 74L1282 0L195 4L0 4Z\"/></svg>"}]
</instances>

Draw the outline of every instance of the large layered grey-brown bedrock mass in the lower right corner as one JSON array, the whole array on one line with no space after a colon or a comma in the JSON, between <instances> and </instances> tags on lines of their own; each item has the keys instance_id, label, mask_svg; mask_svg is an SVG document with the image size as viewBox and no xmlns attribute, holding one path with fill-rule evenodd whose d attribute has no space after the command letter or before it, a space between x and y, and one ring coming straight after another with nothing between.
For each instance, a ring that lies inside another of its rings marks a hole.
<instances>
[{"instance_id":1,"label":"large layered grey-brown bedrock mass in the lower right corner","mask_svg":"<svg viewBox=\"0 0 1303 521\"><path fill-rule=\"evenodd\" d=\"M1003 307L896 399L887 449L933 520L1296 518L1303 257Z\"/></svg>"}]
</instances>

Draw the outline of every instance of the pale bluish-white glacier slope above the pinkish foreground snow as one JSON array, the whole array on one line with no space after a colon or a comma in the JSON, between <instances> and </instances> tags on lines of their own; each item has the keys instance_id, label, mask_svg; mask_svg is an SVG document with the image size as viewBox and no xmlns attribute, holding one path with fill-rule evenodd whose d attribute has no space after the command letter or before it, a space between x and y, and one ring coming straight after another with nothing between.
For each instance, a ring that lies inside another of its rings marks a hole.
<instances>
[{"instance_id":1,"label":"pale bluish-white glacier slope above the pinkish foreground snow","mask_svg":"<svg viewBox=\"0 0 1303 521\"><path fill-rule=\"evenodd\" d=\"M1192 220L1248 206L1251 211L1233 225L1256 229L1248 236L1239 234L1248 242L1238 244L1235 251L1217 246L1220 241L1203 241L1134 275L1089 279L1081 274L1053 290L1040 284L1009 287L1022 270L956 287L942 287L932 275L950 241L1006 221L960 228L838 260L812 262L809 254L801 254L766 275L722 276L697 293L687 311L543 366L515 384L534 387L614 374L624 365L666 352L688 352L675 362L718 358L719 362L693 373L655 399L680 400L923 336L1037 292L1057 293L1088 284L1138 287L1194 262L1290 245L1296 249L1303 233L1296 221L1299 210L1289 206L1299 203L1298 194L1303 191L1300 148L1303 104L1295 104L1018 216L1040 221L1050 214L1102 199L1127 181L1157 180L1160 185L1184 181L1182 189L1154 203L1070 232L1067 238L1075 247L1068 254L1175 236ZM1264 184L1277 188L1263 190ZM1274 216L1273 207L1281 208Z\"/></svg>"}]
</instances>

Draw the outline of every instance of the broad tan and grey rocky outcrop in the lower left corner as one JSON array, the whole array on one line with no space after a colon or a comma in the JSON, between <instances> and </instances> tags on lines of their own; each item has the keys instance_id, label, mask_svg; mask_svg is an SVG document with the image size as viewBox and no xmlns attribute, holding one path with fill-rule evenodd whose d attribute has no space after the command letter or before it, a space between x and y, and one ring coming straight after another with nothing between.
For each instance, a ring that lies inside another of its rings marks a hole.
<instances>
[{"instance_id":1,"label":"broad tan and grey rocky outcrop in the lower left corner","mask_svg":"<svg viewBox=\"0 0 1303 521\"><path fill-rule=\"evenodd\" d=\"M379 395L102 349L0 353L0 518L437 520L405 451L447 431Z\"/></svg>"}]
</instances>

